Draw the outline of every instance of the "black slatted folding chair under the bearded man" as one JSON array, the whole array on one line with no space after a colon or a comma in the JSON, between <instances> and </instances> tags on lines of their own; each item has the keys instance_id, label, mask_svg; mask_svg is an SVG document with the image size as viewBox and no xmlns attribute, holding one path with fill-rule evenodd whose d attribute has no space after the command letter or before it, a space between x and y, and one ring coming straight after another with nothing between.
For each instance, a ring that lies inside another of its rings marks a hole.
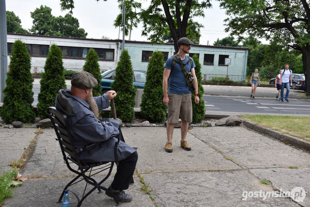
<instances>
[{"instance_id":1,"label":"black slatted folding chair under the bearded man","mask_svg":"<svg viewBox=\"0 0 310 207\"><path fill-rule=\"evenodd\" d=\"M57 110L55 107L49 107L47 109L47 112L49 114L49 117L50 117L51 122L53 124L53 127L55 129L55 133L57 135L56 140L59 141L61 152L64 156L64 163L67 165L67 167L70 171L72 171L73 173L76 173L78 175L73 180L71 180L66 185L66 187L64 187L64 190L62 191L57 203L62 202L61 200L64 196L64 191L67 190L67 188L69 186L72 186L72 185L74 185L78 182L81 182L83 180L86 181L86 186L84 188L84 192L83 192L81 199L79 199L79 197L77 196L76 193L70 191L78 199L78 205L77 205L78 207L81 206L83 200L87 196L89 196L95 189L98 189L98 191L99 191L98 193L108 191L108 192L110 192L110 194L113 195L113 193L110 190L108 190L108 188L102 186L102 183L110 176L112 169L113 169L114 162L82 162L79 159L78 153L83 151L83 150L86 150L87 148L92 147L95 144L85 146L84 148L81 148L81 149L75 148L72 145L73 138L72 138L72 135L70 133L70 128L68 127L69 125L68 125L68 121L67 121L67 116L64 115L62 112L60 112L59 110ZM117 136L113 135L113 137L117 137ZM117 164L118 164L118 162L117 162L116 152L117 152L118 143L119 143L119 138L117 137L117 142L115 142L115 147L114 147L114 156L115 156L115 160L116 160ZM98 166L100 166L100 167L98 167ZM96 167L96 168L93 169L94 167ZM75 169L73 169L73 168L75 168ZM108 170L108 174L100 182L97 182L93 178L93 176L104 171L104 170ZM93 173L92 171L95 171L95 173ZM86 175L86 173L87 173L87 175ZM81 179L79 179L79 178L81 178ZM88 192L86 192L87 184L94 186ZM113 198L116 202L116 206L121 205L118 202L116 196L113 195Z\"/></svg>"}]
</instances>

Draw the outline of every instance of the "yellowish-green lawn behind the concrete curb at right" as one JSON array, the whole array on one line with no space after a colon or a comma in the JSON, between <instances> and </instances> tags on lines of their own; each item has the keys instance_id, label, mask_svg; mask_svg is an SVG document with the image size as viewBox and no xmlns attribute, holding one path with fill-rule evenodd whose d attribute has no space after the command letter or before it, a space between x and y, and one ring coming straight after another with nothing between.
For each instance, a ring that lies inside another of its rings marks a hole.
<instances>
[{"instance_id":1,"label":"yellowish-green lawn behind the concrete curb at right","mask_svg":"<svg viewBox=\"0 0 310 207\"><path fill-rule=\"evenodd\" d=\"M310 141L310 117L281 115L240 115L242 119Z\"/></svg>"}]
</instances>

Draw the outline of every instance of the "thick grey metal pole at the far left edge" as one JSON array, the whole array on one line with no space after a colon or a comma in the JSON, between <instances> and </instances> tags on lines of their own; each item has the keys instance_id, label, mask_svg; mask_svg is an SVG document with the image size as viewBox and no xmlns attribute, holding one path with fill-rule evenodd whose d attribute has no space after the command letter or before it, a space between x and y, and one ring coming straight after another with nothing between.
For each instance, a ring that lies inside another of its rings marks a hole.
<instances>
[{"instance_id":1,"label":"thick grey metal pole at the far left edge","mask_svg":"<svg viewBox=\"0 0 310 207\"><path fill-rule=\"evenodd\" d=\"M3 103L3 89L6 87L7 79L7 12L5 0L0 0L0 90Z\"/></svg>"}]
</instances>

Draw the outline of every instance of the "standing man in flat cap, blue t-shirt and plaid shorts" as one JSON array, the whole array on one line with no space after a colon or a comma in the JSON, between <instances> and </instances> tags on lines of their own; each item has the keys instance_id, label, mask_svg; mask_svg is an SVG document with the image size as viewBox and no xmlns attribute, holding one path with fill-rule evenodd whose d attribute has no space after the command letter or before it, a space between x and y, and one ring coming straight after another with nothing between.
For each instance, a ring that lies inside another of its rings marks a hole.
<instances>
[{"instance_id":1,"label":"standing man in flat cap, blue t-shirt and plaid shorts","mask_svg":"<svg viewBox=\"0 0 310 207\"><path fill-rule=\"evenodd\" d=\"M195 63L193 59L186 54L194 43L186 37L180 38L178 41L179 52L177 53L187 72L191 72L194 76L193 86L195 88L195 103L199 103L198 82L195 74ZM191 60L189 60L189 58ZM165 65L164 77L162 80L162 88L164 90L163 103L168 105L168 120L167 120L167 143L165 150L172 152L172 134L174 124L179 122L181 115L181 147L184 150L191 150L191 147L186 142L186 134L188 124L192 122L192 93L188 90L184 73L178 62L172 63L172 56L168 58ZM193 64L192 64L193 63ZM174 64L174 67L172 66ZM169 79L169 83L168 83ZM169 91L168 91L169 86Z\"/></svg>"}]
</instances>

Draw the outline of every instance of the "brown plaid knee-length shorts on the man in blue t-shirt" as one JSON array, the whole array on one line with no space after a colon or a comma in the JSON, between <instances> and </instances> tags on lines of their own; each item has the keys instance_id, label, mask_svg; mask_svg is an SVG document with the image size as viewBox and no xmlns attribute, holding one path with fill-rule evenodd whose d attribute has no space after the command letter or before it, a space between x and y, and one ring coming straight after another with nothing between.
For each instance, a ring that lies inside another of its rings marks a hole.
<instances>
[{"instance_id":1,"label":"brown plaid knee-length shorts on the man in blue t-shirt","mask_svg":"<svg viewBox=\"0 0 310 207\"><path fill-rule=\"evenodd\" d=\"M182 122L192 122L192 94L168 94L168 120L170 124L179 123L179 116Z\"/></svg>"}]
</instances>

